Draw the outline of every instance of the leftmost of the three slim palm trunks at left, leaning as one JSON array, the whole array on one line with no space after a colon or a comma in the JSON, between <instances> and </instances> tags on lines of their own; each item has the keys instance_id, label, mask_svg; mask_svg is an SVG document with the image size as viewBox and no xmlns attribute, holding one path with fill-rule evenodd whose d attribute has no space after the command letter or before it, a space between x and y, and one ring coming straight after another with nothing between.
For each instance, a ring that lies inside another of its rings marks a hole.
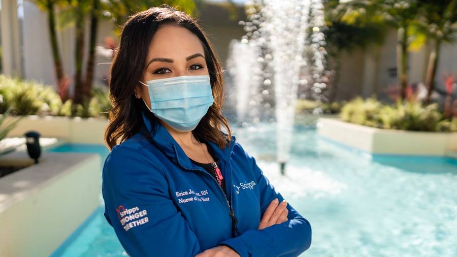
<instances>
[{"instance_id":1,"label":"leftmost of the three slim palm trunks at left, leaning","mask_svg":"<svg viewBox=\"0 0 457 257\"><path fill-rule=\"evenodd\" d=\"M57 79L57 85L61 85L63 79L63 67L62 67L62 59L60 57L59 46L57 42L57 33L55 29L55 14L54 14L54 2L47 1L47 13L48 13L48 29L49 29L49 37L51 41L51 50L52 50L52 57L54 60L54 70ZM64 97L66 98L66 97ZM66 99L62 99L64 101Z\"/></svg>"}]
</instances>

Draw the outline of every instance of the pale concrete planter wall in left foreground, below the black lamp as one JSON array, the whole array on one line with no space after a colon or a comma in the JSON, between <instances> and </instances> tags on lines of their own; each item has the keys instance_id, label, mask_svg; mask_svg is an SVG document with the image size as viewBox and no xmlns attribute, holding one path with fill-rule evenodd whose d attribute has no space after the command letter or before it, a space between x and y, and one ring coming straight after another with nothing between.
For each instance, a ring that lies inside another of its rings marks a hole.
<instances>
[{"instance_id":1,"label":"pale concrete planter wall in left foreground, below the black lamp","mask_svg":"<svg viewBox=\"0 0 457 257\"><path fill-rule=\"evenodd\" d=\"M100 167L98 154L45 152L0 178L1 255L49 256L100 206Z\"/></svg>"}]
</instances>

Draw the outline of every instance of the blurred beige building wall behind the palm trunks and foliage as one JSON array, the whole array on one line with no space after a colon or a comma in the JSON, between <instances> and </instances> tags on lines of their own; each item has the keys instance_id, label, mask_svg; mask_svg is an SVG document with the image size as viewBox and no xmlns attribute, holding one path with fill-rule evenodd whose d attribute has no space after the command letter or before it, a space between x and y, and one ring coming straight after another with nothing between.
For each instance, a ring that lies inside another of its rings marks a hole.
<instances>
[{"instance_id":1,"label":"blurred beige building wall behind the palm trunks and foliage","mask_svg":"<svg viewBox=\"0 0 457 257\"><path fill-rule=\"evenodd\" d=\"M230 12L223 7L224 3L199 3L199 23L207 32L208 37L215 47L222 67L226 69L228 47L232 39L239 40L244 34L238 21L247 20L244 6L237 5L236 17L231 19ZM46 84L55 85L54 65L52 61L49 33L47 29L46 14L38 10L35 4L23 2L23 69L25 79L34 79ZM106 37L114 37L113 24L101 21L97 45L105 45ZM88 29L89 26L86 26ZM86 31L88 35L89 31ZM74 33L72 27L58 31L60 53L63 67L70 77L74 75ZM86 45L87 45L86 39ZM396 44L397 33L392 29L380 46L371 46L366 50L342 51L340 79L336 98L347 100L356 95L368 97L373 93L380 99L387 99L386 90L389 86L397 85L396 71ZM423 81L427 70L427 61L430 49L426 46L418 51L410 52L409 82ZM85 49L87 54L87 48ZM86 56L84 58L84 65ZM443 45L438 63L436 86L444 90L444 73L457 73L457 44ZM95 82L106 84L110 70L110 58L97 55L95 66ZM85 69L84 69L85 71ZM71 90L72 91L72 90Z\"/></svg>"}]
</instances>

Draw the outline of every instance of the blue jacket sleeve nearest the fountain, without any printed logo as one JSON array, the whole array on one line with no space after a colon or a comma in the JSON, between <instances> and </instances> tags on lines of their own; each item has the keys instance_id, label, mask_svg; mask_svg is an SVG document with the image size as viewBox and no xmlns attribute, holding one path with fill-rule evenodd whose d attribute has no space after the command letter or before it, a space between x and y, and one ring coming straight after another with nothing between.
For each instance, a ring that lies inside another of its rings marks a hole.
<instances>
[{"instance_id":1,"label":"blue jacket sleeve nearest the fountain, without any printed logo","mask_svg":"<svg viewBox=\"0 0 457 257\"><path fill-rule=\"evenodd\" d=\"M241 145L240 145L241 147ZM242 148L241 148L242 149ZM244 152L244 150L243 150ZM263 215L270 202L283 197L277 192L255 158L244 152L256 177L260 191L260 211ZM248 230L240 236L224 240L219 245L227 245L245 256L298 256L311 245L311 225L298 211L287 203L288 220L262 230Z\"/></svg>"}]
</instances>

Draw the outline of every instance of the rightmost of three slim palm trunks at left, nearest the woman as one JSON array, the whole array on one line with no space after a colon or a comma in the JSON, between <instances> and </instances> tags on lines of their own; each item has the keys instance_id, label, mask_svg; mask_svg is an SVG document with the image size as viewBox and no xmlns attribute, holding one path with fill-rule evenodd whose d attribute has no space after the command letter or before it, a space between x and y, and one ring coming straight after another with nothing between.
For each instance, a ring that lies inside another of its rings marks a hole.
<instances>
[{"instance_id":1,"label":"rightmost of three slim palm trunks at left, nearest the woman","mask_svg":"<svg viewBox=\"0 0 457 257\"><path fill-rule=\"evenodd\" d=\"M100 0L93 0L93 7L90 14L89 56L87 59L86 79L84 81L84 95L87 97L90 97L93 82L95 47L97 42L97 28L99 24L99 18L97 15L99 12L99 1Z\"/></svg>"}]
</instances>

